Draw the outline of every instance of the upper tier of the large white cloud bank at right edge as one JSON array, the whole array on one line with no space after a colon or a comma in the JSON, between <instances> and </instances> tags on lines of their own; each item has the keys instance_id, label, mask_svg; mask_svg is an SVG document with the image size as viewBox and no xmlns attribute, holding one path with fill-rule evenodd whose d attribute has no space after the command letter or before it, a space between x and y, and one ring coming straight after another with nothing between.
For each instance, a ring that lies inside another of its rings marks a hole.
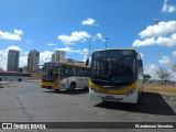
<instances>
[{"instance_id":1,"label":"upper tier of the large white cloud bank at right edge","mask_svg":"<svg viewBox=\"0 0 176 132\"><path fill-rule=\"evenodd\" d=\"M168 33L176 32L176 21L160 22L156 25L150 25L144 31L140 32L139 35L143 37L155 37L166 35Z\"/></svg>"}]
</instances>

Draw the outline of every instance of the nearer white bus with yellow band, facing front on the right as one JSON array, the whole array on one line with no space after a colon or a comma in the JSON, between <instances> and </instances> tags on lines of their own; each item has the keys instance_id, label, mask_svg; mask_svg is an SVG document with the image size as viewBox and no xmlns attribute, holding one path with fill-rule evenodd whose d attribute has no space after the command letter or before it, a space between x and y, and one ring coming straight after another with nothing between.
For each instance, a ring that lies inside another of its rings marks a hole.
<instances>
[{"instance_id":1,"label":"nearer white bus with yellow band, facing front on the right","mask_svg":"<svg viewBox=\"0 0 176 132\"><path fill-rule=\"evenodd\" d=\"M90 58L90 99L138 103L143 90L143 64L135 50L95 51Z\"/></svg>"}]
</instances>

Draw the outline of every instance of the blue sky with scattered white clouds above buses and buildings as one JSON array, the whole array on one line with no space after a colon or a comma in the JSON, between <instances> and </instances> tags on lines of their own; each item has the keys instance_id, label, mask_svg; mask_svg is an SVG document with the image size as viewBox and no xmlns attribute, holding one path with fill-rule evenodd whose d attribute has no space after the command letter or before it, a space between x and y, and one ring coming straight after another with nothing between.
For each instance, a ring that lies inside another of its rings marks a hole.
<instances>
[{"instance_id":1,"label":"blue sky with scattered white clouds above buses and buildings","mask_svg":"<svg viewBox=\"0 0 176 132\"><path fill-rule=\"evenodd\" d=\"M158 22L156 22L158 20ZM85 61L96 50L135 48L145 74L170 70L176 62L175 0L0 0L0 67L7 69L9 50L40 52L40 64L56 51Z\"/></svg>"}]
</instances>

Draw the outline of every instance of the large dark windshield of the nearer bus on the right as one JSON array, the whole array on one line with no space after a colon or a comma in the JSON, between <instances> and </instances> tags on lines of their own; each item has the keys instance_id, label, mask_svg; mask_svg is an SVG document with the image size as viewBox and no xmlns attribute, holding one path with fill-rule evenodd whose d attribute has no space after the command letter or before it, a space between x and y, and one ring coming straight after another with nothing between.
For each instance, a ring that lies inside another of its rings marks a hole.
<instances>
[{"instance_id":1,"label":"large dark windshield of the nearer bus on the right","mask_svg":"<svg viewBox=\"0 0 176 132\"><path fill-rule=\"evenodd\" d=\"M99 85L129 85L135 80L134 55L92 55L91 80Z\"/></svg>"}]
</instances>

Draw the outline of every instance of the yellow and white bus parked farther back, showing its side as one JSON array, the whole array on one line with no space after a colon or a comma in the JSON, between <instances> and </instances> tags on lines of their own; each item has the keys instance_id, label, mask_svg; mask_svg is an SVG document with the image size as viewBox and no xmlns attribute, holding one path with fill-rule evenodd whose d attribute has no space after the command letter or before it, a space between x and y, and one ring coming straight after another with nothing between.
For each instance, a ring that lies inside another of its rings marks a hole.
<instances>
[{"instance_id":1,"label":"yellow and white bus parked farther back, showing its side","mask_svg":"<svg viewBox=\"0 0 176 132\"><path fill-rule=\"evenodd\" d=\"M41 88L74 91L76 88L88 88L90 68L68 63L48 62L43 65Z\"/></svg>"}]
</instances>

